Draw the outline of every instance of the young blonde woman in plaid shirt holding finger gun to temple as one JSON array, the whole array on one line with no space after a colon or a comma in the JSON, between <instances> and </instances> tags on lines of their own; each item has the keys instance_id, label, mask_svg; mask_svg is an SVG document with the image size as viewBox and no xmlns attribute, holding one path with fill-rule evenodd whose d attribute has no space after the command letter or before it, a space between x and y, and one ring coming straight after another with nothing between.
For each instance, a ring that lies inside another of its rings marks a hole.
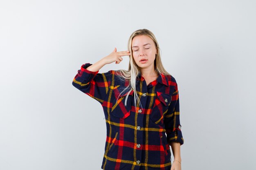
<instances>
[{"instance_id":1,"label":"young blonde woman in plaid shirt holding finger gun to temple","mask_svg":"<svg viewBox=\"0 0 256 170\"><path fill-rule=\"evenodd\" d=\"M123 56L129 56L128 71L99 73ZM151 31L133 32L128 51L115 48L98 62L83 64L72 84L103 107L107 137L102 169L181 170L184 139L177 83L164 69Z\"/></svg>"}]
</instances>

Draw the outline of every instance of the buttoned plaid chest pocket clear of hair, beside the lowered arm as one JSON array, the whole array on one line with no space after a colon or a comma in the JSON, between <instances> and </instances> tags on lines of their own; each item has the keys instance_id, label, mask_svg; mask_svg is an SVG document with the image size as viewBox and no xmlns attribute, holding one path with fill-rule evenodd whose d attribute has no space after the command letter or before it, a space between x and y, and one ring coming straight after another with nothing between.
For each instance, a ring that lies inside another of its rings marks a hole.
<instances>
[{"instance_id":1,"label":"buttoned plaid chest pocket clear of hair, beside the lowered arm","mask_svg":"<svg viewBox=\"0 0 256 170\"><path fill-rule=\"evenodd\" d=\"M167 93L158 92L155 98L155 104L150 114L150 119L155 124L164 124L164 114L171 104L172 96Z\"/></svg>"}]
</instances>

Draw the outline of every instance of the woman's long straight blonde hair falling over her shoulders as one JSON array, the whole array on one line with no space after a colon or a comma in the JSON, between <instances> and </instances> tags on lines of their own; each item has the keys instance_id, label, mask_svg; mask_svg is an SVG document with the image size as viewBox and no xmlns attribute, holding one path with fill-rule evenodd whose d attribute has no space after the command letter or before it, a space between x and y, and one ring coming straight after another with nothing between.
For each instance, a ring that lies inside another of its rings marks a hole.
<instances>
[{"instance_id":1,"label":"woman's long straight blonde hair falling over her shoulders","mask_svg":"<svg viewBox=\"0 0 256 170\"><path fill-rule=\"evenodd\" d=\"M137 35L147 35L148 37L150 37L154 41L155 47L157 49L157 54L156 54L155 61L154 61L155 71L159 75L161 75L161 74L170 75L164 69L164 66L162 64L160 53L159 53L159 45L158 45L158 42L155 38L155 35L151 31L149 31L148 29L138 29L138 30L134 31L130 35L130 38L128 40L128 50L131 52L130 53L131 55L129 57L128 71L118 70L117 72L119 72L119 76L122 77L124 81L125 81L125 79L129 81L129 85L126 88L124 88L124 90L121 92L121 93L124 93L124 91L126 91L126 89L128 89L128 88L130 89L128 94L126 95L125 106L126 106L126 102L127 102L127 99L128 99L128 95L133 90L134 91L135 108L136 108L136 103L137 103L136 99L139 100L139 97L138 97L137 91L136 91L136 77L140 73L140 70L139 70L139 67L137 66L137 64L135 63L135 61L133 60L133 57L132 57L132 39L134 37L136 37ZM162 75L161 75L161 77L162 77ZM120 93L120 95L121 95L121 93ZM117 100L118 100L118 98L117 98ZM141 105L140 101L139 101L139 104ZM142 105L141 105L141 107L142 107Z\"/></svg>"}]
</instances>

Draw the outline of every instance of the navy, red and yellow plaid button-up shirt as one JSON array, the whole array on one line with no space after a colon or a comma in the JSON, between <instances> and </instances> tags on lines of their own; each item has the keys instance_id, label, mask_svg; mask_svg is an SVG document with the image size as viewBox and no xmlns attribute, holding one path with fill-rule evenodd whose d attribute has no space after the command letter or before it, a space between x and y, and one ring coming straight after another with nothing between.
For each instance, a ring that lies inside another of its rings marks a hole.
<instances>
[{"instance_id":1,"label":"navy, red and yellow plaid button-up shirt","mask_svg":"<svg viewBox=\"0 0 256 170\"><path fill-rule=\"evenodd\" d=\"M103 107L107 137L101 168L104 170L170 170L171 142L180 142L179 93L171 75L163 75L146 85L137 76L136 90L142 107L135 107L134 91L121 93L129 82L122 82L117 71L88 71L81 66L73 86L96 99ZM121 95L120 95L121 93ZM120 95L120 96L119 96ZM117 100L117 97L118 100ZM166 135L165 135L166 133Z\"/></svg>"}]
</instances>

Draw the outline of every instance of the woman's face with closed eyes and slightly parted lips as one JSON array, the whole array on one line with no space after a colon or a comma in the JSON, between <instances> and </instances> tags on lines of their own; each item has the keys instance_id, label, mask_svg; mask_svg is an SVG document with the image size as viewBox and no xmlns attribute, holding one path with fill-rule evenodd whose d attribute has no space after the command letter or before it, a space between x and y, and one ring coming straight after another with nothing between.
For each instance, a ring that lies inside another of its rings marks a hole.
<instances>
[{"instance_id":1,"label":"woman's face with closed eyes and slightly parted lips","mask_svg":"<svg viewBox=\"0 0 256 170\"><path fill-rule=\"evenodd\" d=\"M132 57L140 68L154 69L156 53L155 43L147 35L137 35L132 39Z\"/></svg>"}]
</instances>

